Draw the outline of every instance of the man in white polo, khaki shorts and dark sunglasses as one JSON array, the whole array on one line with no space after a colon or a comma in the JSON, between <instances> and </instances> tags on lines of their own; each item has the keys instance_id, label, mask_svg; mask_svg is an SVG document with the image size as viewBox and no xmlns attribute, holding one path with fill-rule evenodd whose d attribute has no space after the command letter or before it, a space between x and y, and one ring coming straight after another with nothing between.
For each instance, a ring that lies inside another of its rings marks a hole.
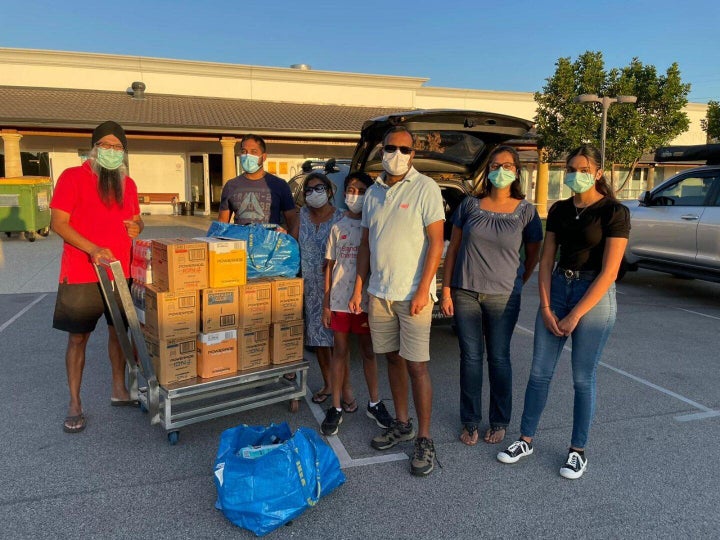
<instances>
[{"instance_id":1,"label":"man in white polo, khaki shorts and dark sunglasses","mask_svg":"<svg viewBox=\"0 0 720 540\"><path fill-rule=\"evenodd\" d=\"M375 352L385 353L388 359L396 414L393 424L370 444L386 450L415 437L408 414L409 374L418 415L410 471L426 476L435 461L430 437L432 384L427 362L445 211L438 185L413 168L413 147L414 137L404 127L394 127L385 134L385 172L365 192L357 277L349 308L353 313L362 311L361 291L370 271L370 334Z\"/></svg>"}]
</instances>

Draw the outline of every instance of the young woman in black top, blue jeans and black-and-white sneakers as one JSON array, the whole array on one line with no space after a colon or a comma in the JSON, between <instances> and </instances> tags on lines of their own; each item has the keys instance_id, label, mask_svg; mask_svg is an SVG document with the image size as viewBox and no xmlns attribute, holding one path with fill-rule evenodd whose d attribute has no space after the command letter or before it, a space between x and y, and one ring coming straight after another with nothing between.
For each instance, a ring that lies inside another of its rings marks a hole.
<instances>
[{"instance_id":1,"label":"young woman in black top, blue jeans and black-and-white sneakers","mask_svg":"<svg viewBox=\"0 0 720 540\"><path fill-rule=\"evenodd\" d=\"M573 431L567 460L560 469L570 479L580 478L587 467L585 444L595 412L595 374L615 324L615 278L630 233L630 213L615 199L600 163L600 152L593 146L583 145L570 153L565 185L573 196L558 201L548 212L540 259L540 307L520 438L497 456L503 463L515 463L533 453L532 440L550 381L563 346L572 336Z\"/></svg>"}]
</instances>

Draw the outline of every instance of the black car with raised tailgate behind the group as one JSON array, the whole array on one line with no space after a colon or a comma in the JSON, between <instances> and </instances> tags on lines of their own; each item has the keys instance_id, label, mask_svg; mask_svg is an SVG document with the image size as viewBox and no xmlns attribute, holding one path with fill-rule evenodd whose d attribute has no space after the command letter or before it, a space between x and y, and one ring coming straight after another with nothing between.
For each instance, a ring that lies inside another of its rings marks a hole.
<instances>
[{"instance_id":1,"label":"black car with raised tailgate behind the group","mask_svg":"<svg viewBox=\"0 0 720 540\"><path fill-rule=\"evenodd\" d=\"M446 246L452 231L452 214L481 180L490 152L510 139L525 136L532 127L528 120L480 111L417 110L382 116L363 125L350 170L364 171L372 177L380 174L382 138L388 129L398 125L407 127L415 135L413 166L440 186L445 206ZM438 298L442 271L441 262L437 274ZM437 303L433 319L448 321Z\"/></svg>"}]
</instances>

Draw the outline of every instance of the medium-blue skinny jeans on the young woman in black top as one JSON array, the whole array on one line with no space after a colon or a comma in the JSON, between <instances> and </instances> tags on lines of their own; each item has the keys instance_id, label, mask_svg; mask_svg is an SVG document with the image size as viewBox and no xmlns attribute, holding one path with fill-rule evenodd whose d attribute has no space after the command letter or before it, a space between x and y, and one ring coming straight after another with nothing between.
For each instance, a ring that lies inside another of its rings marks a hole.
<instances>
[{"instance_id":1,"label":"medium-blue skinny jeans on the young woman in black top","mask_svg":"<svg viewBox=\"0 0 720 540\"><path fill-rule=\"evenodd\" d=\"M580 301L591 280L568 280L553 272L550 285L550 306L558 318L565 317ZM617 304L613 283L600 301L578 322L572 335L572 375L575 399L573 432L570 446L585 448L590 424L595 414L595 375L603 348L615 325ZM540 310L535 319L533 362L525 390L520 433L534 437L540 416L547 402L550 381L562 354L567 337L553 335L543 322Z\"/></svg>"}]
</instances>

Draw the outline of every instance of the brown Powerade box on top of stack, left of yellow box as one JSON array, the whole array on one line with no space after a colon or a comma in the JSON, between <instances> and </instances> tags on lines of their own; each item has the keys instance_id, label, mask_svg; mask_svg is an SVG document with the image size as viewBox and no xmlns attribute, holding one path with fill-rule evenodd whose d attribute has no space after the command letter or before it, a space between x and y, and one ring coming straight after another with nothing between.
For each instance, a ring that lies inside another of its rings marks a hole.
<instances>
[{"instance_id":1,"label":"brown Powerade box on top of stack, left of yellow box","mask_svg":"<svg viewBox=\"0 0 720 540\"><path fill-rule=\"evenodd\" d=\"M182 238L153 240L153 285L169 292L207 288L207 248L205 242Z\"/></svg>"}]
</instances>

